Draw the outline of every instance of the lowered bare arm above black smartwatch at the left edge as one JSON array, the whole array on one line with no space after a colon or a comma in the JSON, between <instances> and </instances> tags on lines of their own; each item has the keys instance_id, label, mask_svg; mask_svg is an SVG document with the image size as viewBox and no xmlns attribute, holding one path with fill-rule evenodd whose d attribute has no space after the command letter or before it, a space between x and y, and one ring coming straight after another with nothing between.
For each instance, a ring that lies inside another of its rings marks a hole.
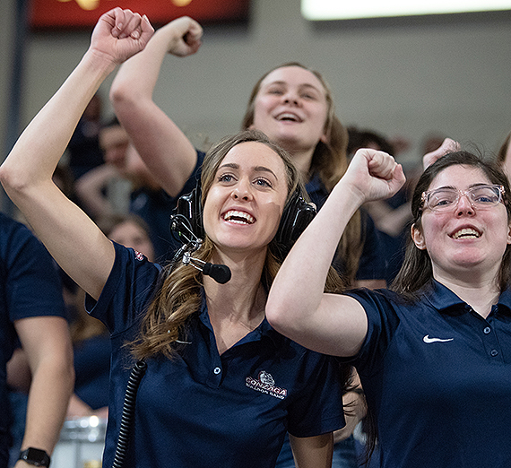
<instances>
[{"instance_id":1,"label":"lowered bare arm above black smartwatch at the left edge","mask_svg":"<svg viewBox=\"0 0 511 468\"><path fill-rule=\"evenodd\" d=\"M67 322L59 316L34 316L17 320L14 326L32 375L22 449L33 446L51 454L74 387Z\"/></svg>"}]
</instances>

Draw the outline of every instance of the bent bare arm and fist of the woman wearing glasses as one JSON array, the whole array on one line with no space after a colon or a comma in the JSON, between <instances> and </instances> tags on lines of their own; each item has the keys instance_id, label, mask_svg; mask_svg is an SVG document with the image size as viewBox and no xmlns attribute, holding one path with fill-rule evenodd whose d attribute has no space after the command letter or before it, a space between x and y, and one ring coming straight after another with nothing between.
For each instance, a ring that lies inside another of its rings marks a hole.
<instances>
[{"instance_id":1,"label":"bent bare arm and fist of the woman wearing glasses","mask_svg":"<svg viewBox=\"0 0 511 468\"><path fill-rule=\"evenodd\" d=\"M349 296L324 294L326 274L352 214L369 200L393 195L403 183L403 169L388 154L355 154L273 282L266 316L277 331L325 354L359 351L368 327L364 308Z\"/></svg>"}]
</instances>

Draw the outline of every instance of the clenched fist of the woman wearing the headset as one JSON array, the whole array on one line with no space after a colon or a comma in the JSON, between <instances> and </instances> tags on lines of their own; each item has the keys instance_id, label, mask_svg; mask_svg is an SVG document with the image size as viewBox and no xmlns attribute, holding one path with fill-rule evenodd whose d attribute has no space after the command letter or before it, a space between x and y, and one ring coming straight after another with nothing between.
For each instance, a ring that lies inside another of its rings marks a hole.
<instances>
[{"instance_id":1,"label":"clenched fist of the woman wearing the headset","mask_svg":"<svg viewBox=\"0 0 511 468\"><path fill-rule=\"evenodd\" d=\"M145 15L117 7L101 15L92 31L91 50L118 65L143 50L153 32Z\"/></svg>"}]
</instances>

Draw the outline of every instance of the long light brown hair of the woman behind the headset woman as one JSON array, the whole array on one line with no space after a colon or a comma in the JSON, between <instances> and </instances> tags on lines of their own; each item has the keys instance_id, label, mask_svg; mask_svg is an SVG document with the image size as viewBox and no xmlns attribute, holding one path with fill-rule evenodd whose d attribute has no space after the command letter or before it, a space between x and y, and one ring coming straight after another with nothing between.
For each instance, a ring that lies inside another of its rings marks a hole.
<instances>
[{"instance_id":1,"label":"long light brown hair of the woman behind the headset woman","mask_svg":"<svg viewBox=\"0 0 511 468\"><path fill-rule=\"evenodd\" d=\"M286 66L299 66L314 74L321 82L325 91L325 99L327 104L326 120L325 120L325 135L326 142L319 141L312 155L310 164L309 177L317 174L321 182L325 186L328 193L333 189L333 186L341 180L342 176L348 169L348 132L342 126L341 120L335 115L335 107L333 104L333 94L330 86L325 81L322 74L316 70L311 70L300 64L299 62L289 62L277 66L261 76L255 83L250 98L248 99L247 110L243 117L241 127L242 129L250 128L254 123L255 114L255 98L261 89L261 83L264 78L271 74L274 70ZM342 235L339 247L337 249L337 256L342 260L344 266L344 274L349 278L350 282L355 281L357 270L359 269L359 259L362 254L364 239L361 237L361 218L360 212L356 212L352 217L344 234Z\"/></svg>"}]
</instances>

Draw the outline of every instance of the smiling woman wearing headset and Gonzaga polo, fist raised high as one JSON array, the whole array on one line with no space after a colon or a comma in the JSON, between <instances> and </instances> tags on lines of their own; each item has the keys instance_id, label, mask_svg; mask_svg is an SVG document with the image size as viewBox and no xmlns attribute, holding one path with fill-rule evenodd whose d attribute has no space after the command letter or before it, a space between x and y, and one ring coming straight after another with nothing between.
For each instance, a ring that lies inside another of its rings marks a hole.
<instances>
[{"instance_id":1,"label":"smiling woman wearing headset and Gonzaga polo, fist raised high","mask_svg":"<svg viewBox=\"0 0 511 468\"><path fill-rule=\"evenodd\" d=\"M276 333L264 315L279 266L273 238L299 188L287 154L248 132L204 159L203 208L195 215L206 236L194 255L227 265L225 284L186 263L162 269L111 242L52 182L100 82L151 35L145 16L120 8L101 16L82 61L0 168L8 195L110 332L104 465L117 463L129 369L143 360L123 466L271 467L288 430L300 467L330 466L332 431L344 424L345 374L333 359Z\"/></svg>"}]
</instances>

